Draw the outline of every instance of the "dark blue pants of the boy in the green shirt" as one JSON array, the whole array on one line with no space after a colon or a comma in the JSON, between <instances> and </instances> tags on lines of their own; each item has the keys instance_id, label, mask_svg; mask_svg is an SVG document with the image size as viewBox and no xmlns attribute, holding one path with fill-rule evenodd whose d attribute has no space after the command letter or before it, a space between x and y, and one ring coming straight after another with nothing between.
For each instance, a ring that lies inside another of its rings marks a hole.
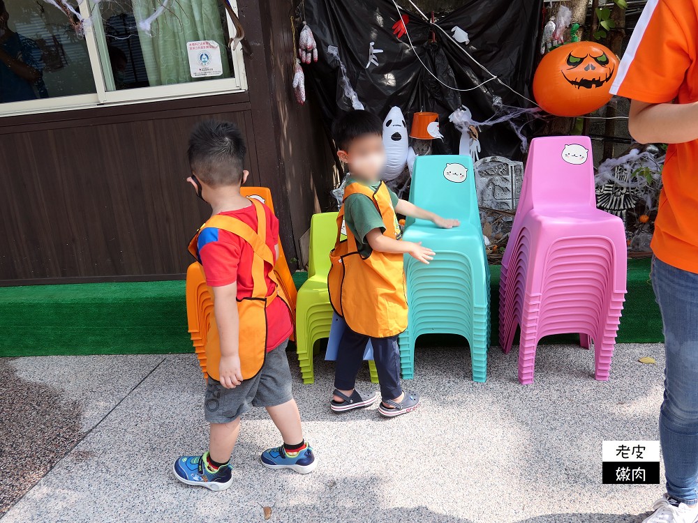
<instances>
[{"instance_id":1,"label":"dark blue pants of the boy in the green shirt","mask_svg":"<svg viewBox=\"0 0 698 523\"><path fill-rule=\"evenodd\" d=\"M364 362L366 343L371 340L373 361L378 370L380 395L383 400L394 400L402 394L400 386L400 348L397 336L391 338L369 338L346 328L339 342L337 361L334 366L334 386L341 391L350 391L356 384L356 375Z\"/></svg>"}]
</instances>

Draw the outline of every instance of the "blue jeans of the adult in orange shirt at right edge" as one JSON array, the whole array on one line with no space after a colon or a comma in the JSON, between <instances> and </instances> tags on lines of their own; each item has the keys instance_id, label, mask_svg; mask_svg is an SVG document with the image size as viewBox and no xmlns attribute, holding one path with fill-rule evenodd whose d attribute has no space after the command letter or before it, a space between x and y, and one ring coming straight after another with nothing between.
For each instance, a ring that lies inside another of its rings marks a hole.
<instances>
[{"instance_id":1,"label":"blue jeans of the adult in orange shirt at right edge","mask_svg":"<svg viewBox=\"0 0 698 523\"><path fill-rule=\"evenodd\" d=\"M698 274L655 258L652 285L667 352L659 418L667 492L692 505L698 499Z\"/></svg>"}]
</instances>

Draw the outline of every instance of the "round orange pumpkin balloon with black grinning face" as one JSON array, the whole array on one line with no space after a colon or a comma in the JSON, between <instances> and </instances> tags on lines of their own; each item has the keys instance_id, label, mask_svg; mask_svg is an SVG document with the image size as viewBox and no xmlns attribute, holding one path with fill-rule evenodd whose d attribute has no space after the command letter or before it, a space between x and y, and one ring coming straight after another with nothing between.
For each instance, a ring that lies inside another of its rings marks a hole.
<instances>
[{"instance_id":1,"label":"round orange pumpkin balloon with black grinning face","mask_svg":"<svg viewBox=\"0 0 698 523\"><path fill-rule=\"evenodd\" d=\"M533 77L533 96L544 111L581 116L611 100L618 57L595 42L560 45L540 61Z\"/></svg>"}]
</instances>

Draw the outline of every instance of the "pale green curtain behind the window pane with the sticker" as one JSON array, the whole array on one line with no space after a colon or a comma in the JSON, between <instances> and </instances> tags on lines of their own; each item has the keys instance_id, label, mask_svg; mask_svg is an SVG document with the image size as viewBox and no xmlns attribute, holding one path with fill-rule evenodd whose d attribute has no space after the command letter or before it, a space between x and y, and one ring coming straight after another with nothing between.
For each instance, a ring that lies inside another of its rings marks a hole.
<instances>
[{"instance_id":1,"label":"pale green curtain behind the window pane with the sticker","mask_svg":"<svg viewBox=\"0 0 698 523\"><path fill-rule=\"evenodd\" d=\"M135 19L145 20L161 1L133 0ZM220 46L223 75L208 79L230 78L218 0L170 0L168 9L151 24L150 32L139 27L138 36L151 86L193 81L186 44L197 40L214 40Z\"/></svg>"}]
</instances>

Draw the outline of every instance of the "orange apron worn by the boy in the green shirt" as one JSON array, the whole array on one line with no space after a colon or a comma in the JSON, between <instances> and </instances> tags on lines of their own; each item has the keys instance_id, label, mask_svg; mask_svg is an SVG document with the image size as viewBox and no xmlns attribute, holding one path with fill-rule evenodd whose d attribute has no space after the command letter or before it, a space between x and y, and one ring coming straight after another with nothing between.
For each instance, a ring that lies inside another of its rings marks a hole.
<instances>
[{"instance_id":1,"label":"orange apron worn by the boy in the green shirt","mask_svg":"<svg viewBox=\"0 0 698 523\"><path fill-rule=\"evenodd\" d=\"M354 194L366 195L376 204L385 236L394 240L401 237L385 183L381 182L375 192L361 183L350 183L344 189L344 199ZM349 227L345 227L346 239L341 239L343 222L344 205L337 216L337 240L329 253L332 266L327 287L334 312L355 333L373 338L398 335L407 328L403 255L374 250L369 257L362 257Z\"/></svg>"}]
</instances>

